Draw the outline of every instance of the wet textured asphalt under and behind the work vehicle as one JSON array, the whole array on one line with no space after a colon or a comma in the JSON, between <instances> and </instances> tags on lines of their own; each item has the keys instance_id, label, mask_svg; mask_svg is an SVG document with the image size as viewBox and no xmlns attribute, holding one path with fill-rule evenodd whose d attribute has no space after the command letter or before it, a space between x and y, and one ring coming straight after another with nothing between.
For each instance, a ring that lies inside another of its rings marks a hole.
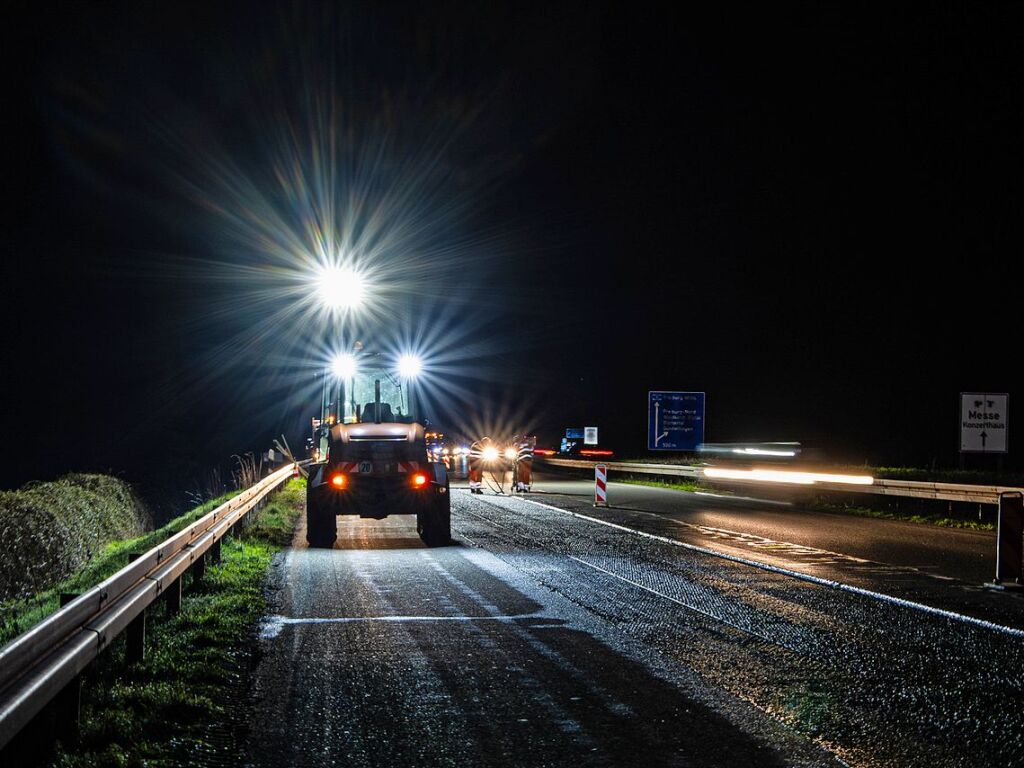
<instances>
[{"instance_id":1,"label":"wet textured asphalt under and behind the work vehicle","mask_svg":"<svg viewBox=\"0 0 1024 768\"><path fill-rule=\"evenodd\" d=\"M1016 765L1024 640L453 494L453 546L342 519L276 563L246 762ZM553 507L561 507L555 509ZM621 525L621 523L614 523ZM707 549L707 548L705 548Z\"/></svg>"}]
</instances>

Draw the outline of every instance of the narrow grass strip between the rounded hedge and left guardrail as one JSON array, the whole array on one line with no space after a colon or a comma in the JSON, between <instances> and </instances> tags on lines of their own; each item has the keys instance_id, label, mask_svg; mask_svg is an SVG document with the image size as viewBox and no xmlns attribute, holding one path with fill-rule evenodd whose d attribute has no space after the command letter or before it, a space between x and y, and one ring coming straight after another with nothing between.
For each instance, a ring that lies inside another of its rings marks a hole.
<instances>
[{"instance_id":1,"label":"narrow grass strip between the rounded hedge and left guardrail","mask_svg":"<svg viewBox=\"0 0 1024 768\"><path fill-rule=\"evenodd\" d=\"M100 550L99 554L68 579L30 598L0 604L0 645L10 642L11 639L55 611L59 607L61 592L79 594L94 587L127 565L128 555L145 552L156 547L232 496L234 494L225 494L219 499L213 499L190 512L174 518L157 530L135 539L108 544Z\"/></svg>"}]
</instances>

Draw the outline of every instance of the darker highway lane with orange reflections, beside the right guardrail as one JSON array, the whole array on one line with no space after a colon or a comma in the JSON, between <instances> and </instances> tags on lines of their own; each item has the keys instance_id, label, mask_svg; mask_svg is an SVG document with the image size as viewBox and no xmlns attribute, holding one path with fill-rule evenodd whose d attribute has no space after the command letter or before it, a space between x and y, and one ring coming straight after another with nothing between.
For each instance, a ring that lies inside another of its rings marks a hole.
<instances>
[{"instance_id":1,"label":"darker highway lane with orange reflections, beside the right guardrail","mask_svg":"<svg viewBox=\"0 0 1024 768\"><path fill-rule=\"evenodd\" d=\"M613 481L611 508L595 510L593 483L561 472L538 473L535 488L540 501L650 534L1024 629L1024 595L985 586L995 569L991 531Z\"/></svg>"}]
</instances>

